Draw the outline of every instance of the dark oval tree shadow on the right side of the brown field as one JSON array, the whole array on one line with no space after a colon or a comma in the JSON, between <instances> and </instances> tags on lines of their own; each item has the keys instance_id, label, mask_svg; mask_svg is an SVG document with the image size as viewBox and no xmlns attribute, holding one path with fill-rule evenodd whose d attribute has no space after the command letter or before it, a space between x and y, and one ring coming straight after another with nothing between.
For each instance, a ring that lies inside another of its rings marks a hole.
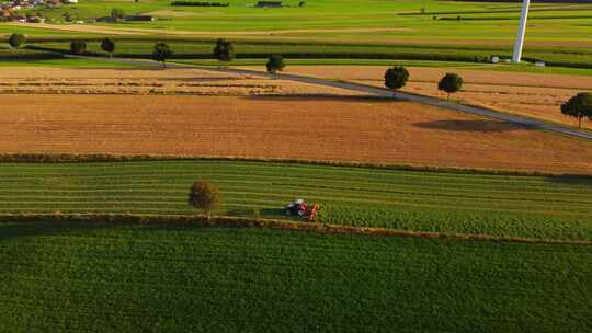
<instances>
[{"instance_id":1,"label":"dark oval tree shadow on the right side of the brown field","mask_svg":"<svg viewBox=\"0 0 592 333\"><path fill-rule=\"evenodd\" d=\"M504 133L521 129L531 129L531 127L497 120L437 120L426 123L415 123L415 127L451 130L451 131L474 131L474 133Z\"/></svg>"}]
</instances>

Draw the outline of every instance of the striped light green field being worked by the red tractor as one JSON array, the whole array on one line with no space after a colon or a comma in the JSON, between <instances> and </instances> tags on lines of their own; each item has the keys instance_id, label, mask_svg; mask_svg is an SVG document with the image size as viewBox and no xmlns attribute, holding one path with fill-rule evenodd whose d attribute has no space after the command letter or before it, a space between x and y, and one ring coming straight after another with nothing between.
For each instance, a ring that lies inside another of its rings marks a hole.
<instances>
[{"instance_id":1,"label":"striped light green field being worked by the red tractor","mask_svg":"<svg viewBox=\"0 0 592 333\"><path fill-rule=\"evenodd\" d=\"M0 164L0 214L198 214L190 185L218 184L227 216L283 218L294 197L321 222L545 240L592 240L592 180L241 161Z\"/></svg>"}]
</instances>

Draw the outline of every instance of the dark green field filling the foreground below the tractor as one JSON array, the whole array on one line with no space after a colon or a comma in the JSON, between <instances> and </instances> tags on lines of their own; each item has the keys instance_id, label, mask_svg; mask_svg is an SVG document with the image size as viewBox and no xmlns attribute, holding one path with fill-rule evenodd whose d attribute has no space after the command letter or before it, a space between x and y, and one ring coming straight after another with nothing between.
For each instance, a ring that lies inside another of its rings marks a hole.
<instances>
[{"instance_id":1,"label":"dark green field filling the foreground below the tractor","mask_svg":"<svg viewBox=\"0 0 592 333\"><path fill-rule=\"evenodd\" d=\"M590 246L0 222L0 331L590 332Z\"/></svg>"}]
</instances>

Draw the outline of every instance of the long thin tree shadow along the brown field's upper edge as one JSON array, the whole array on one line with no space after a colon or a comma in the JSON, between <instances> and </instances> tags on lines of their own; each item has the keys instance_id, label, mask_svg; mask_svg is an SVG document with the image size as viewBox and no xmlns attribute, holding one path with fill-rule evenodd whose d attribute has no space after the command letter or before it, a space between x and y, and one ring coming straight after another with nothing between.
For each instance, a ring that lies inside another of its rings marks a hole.
<instances>
[{"instance_id":1,"label":"long thin tree shadow along the brown field's upper edge","mask_svg":"<svg viewBox=\"0 0 592 333\"><path fill-rule=\"evenodd\" d=\"M372 95L333 95L333 94L289 94L289 95L252 95L244 99L258 101L285 101L285 102L372 102L372 103L398 103L403 102L392 97L372 96Z\"/></svg>"}]
</instances>

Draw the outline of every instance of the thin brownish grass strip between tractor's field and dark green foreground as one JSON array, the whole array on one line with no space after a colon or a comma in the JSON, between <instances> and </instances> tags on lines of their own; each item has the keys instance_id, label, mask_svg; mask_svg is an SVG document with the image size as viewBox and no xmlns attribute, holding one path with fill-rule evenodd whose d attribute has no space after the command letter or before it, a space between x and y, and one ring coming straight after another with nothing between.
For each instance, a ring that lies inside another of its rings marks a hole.
<instances>
[{"instance_id":1,"label":"thin brownish grass strip between tractor's field and dark green foreground","mask_svg":"<svg viewBox=\"0 0 592 333\"><path fill-rule=\"evenodd\" d=\"M418 239L440 239L456 241L480 241L498 243L524 243L539 245L578 245L592 246L592 241L571 240L549 240L520 237L499 237L491 234L470 233L447 233L429 231L408 231L386 228L351 227L342 225L328 225L316 222L301 222L278 219L257 219L244 217L215 216L207 220L203 215L112 215L112 214L72 214L62 215L60 213L48 214L4 214L0 215L0 221L5 222L89 222L89 223L113 223L113 225L192 225L198 227L218 228L253 228L253 229L276 229L293 230L301 232L332 233L332 234L355 234L355 236L379 236L392 238L418 238Z\"/></svg>"}]
</instances>

